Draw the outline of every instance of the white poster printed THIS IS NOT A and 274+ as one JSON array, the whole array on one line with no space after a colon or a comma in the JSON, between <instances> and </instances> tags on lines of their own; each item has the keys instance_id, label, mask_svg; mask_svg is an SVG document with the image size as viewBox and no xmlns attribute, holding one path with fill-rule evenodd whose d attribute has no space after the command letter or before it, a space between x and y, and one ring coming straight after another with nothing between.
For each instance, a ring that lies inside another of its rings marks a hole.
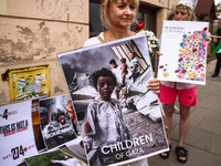
<instances>
[{"instance_id":1,"label":"white poster printed THIS IS NOT A and 274+","mask_svg":"<svg viewBox=\"0 0 221 166\"><path fill-rule=\"evenodd\" d=\"M0 106L0 164L19 165L25 157L38 155L31 101Z\"/></svg>"}]
</instances>

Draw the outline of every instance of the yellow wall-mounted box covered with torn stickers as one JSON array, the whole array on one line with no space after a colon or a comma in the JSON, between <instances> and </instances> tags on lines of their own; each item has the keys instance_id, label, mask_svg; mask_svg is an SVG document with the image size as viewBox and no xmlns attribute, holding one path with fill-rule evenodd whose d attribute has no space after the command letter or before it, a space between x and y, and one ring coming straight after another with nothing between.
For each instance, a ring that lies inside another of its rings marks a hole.
<instances>
[{"instance_id":1,"label":"yellow wall-mounted box covered with torn stickers","mask_svg":"<svg viewBox=\"0 0 221 166\"><path fill-rule=\"evenodd\" d=\"M34 66L9 72L11 102L50 96L49 66Z\"/></svg>"}]
</instances>

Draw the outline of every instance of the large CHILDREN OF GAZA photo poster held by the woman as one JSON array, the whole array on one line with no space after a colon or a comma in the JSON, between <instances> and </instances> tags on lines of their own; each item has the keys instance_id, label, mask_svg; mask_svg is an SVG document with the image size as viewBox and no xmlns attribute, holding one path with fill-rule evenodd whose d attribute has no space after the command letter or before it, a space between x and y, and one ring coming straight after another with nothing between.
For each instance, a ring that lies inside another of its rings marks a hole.
<instances>
[{"instance_id":1,"label":"large CHILDREN OF GAZA photo poster held by the woman","mask_svg":"<svg viewBox=\"0 0 221 166\"><path fill-rule=\"evenodd\" d=\"M147 89L152 79L148 52L143 33L57 54L91 166L131 163L169 149L158 96ZM139 72L133 80L135 63Z\"/></svg>"}]
</instances>

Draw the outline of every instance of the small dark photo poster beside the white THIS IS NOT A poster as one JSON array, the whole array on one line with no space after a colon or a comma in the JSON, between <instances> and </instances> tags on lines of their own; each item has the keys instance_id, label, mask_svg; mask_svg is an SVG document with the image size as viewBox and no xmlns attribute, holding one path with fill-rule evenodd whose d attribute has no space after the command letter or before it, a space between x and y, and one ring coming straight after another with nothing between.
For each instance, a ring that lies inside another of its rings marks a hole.
<instances>
[{"instance_id":1,"label":"small dark photo poster beside the white THIS IS NOT A poster","mask_svg":"<svg viewBox=\"0 0 221 166\"><path fill-rule=\"evenodd\" d=\"M39 101L39 120L46 149L57 147L77 137L65 110L67 101L67 94Z\"/></svg>"}]
</instances>

